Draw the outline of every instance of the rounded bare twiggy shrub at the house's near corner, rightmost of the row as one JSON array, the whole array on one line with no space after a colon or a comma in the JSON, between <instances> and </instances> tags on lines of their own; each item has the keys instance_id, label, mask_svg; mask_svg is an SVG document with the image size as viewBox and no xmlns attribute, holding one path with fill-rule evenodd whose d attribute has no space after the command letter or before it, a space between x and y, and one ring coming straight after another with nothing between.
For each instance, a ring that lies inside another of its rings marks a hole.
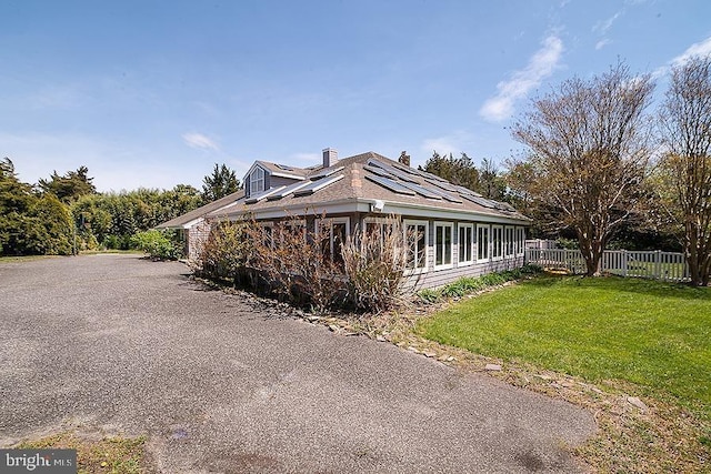
<instances>
[{"instance_id":1,"label":"rounded bare twiggy shrub at the house's near corner, rightmost of the row","mask_svg":"<svg viewBox=\"0 0 711 474\"><path fill-rule=\"evenodd\" d=\"M349 304L380 312L401 302L407 255L397 219L358 230L343 244L342 255Z\"/></svg>"}]
</instances>

